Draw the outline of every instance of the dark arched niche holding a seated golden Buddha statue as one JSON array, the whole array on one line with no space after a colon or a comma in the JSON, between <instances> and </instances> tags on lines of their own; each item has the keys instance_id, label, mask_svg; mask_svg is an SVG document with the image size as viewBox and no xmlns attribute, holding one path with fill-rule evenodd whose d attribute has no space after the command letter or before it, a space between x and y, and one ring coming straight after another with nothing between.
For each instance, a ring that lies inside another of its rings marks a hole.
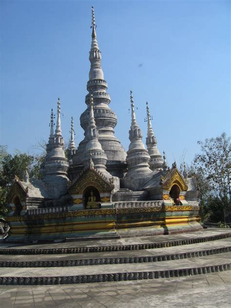
<instances>
[{"instance_id":1,"label":"dark arched niche holding a seated golden Buddha statue","mask_svg":"<svg viewBox=\"0 0 231 308\"><path fill-rule=\"evenodd\" d=\"M100 193L94 186L88 186L83 191L84 209L99 209L101 206Z\"/></svg>"}]
</instances>

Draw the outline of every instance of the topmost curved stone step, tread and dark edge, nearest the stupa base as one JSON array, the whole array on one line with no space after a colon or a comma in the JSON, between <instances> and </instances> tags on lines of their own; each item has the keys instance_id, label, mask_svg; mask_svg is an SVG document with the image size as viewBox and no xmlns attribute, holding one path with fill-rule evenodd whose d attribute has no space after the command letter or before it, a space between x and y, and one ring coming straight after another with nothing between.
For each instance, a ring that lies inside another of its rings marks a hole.
<instances>
[{"instance_id":1,"label":"topmost curved stone step, tread and dark edge, nearest the stupa base","mask_svg":"<svg viewBox=\"0 0 231 308\"><path fill-rule=\"evenodd\" d=\"M212 228L192 233L146 236L138 238L121 238L113 240L95 240L84 242L66 242L39 245L5 245L0 254L62 254L89 253L102 251L144 250L195 243L210 242L231 237L227 229ZM2 245L1 245L2 246Z\"/></svg>"}]
</instances>

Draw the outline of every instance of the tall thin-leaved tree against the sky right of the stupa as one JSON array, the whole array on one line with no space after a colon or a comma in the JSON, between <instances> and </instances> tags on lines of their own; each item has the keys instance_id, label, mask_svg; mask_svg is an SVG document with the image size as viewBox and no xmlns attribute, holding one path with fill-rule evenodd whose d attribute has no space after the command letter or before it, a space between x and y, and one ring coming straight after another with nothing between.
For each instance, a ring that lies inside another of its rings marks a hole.
<instances>
[{"instance_id":1,"label":"tall thin-leaved tree against the sky right of the stupa","mask_svg":"<svg viewBox=\"0 0 231 308\"><path fill-rule=\"evenodd\" d=\"M201 190L201 201L214 201L221 208L225 222L225 211L231 206L231 144L230 137L222 133L216 138L198 141L201 154L196 154L193 169ZM207 205L208 206L208 205Z\"/></svg>"}]
</instances>

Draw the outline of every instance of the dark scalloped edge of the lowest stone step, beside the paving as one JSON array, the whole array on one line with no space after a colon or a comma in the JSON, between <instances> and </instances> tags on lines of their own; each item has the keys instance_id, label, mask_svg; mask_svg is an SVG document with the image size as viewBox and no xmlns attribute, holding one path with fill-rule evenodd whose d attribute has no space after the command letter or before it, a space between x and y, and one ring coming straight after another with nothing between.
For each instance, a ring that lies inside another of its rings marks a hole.
<instances>
[{"instance_id":1,"label":"dark scalloped edge of the lowest stone step, beside the paving","mask_svg":"<svg viewBox=\"0 0 231 308\"><path fill-rule=\"evenodd\" d=\"M231 263L220 265L202 266L188 269L132 271L126 273L104 273L77 276L50 276L50 277L0 277L0 285L62 285L84 284L96 282L143 280L191 276L208 274L231 269Z\"/></svg>"}]
</instances>

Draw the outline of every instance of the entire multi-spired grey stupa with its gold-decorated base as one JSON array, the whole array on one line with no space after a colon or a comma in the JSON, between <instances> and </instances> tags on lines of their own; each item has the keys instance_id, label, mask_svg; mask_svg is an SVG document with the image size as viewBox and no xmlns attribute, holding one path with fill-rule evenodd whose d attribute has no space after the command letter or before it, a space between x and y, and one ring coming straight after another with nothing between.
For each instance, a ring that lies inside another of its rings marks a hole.
<instances>
[{"instance_id":1,"label":"entire multi-spired grey stupa with its gold-decorated base","mask_svg":"<svg viewBox=\"0 0 231 308\"><path fill-rule=\"evenodd\" d=\"M170 169L165 153L162 158L148 104L145 148L132 92L127 155L114 135L117 119L109 108L93 8L89 59L87 109L80 116L84 139L76 148L72 118L71 138L64 151L58 99L55 132L51 112L42 180L30 181L28 176L19 180L16 176L8 194L10 235L6 240L65 241L202 229L194 178L181 174L176 164Z\"/></svg>"}]
</instances>

